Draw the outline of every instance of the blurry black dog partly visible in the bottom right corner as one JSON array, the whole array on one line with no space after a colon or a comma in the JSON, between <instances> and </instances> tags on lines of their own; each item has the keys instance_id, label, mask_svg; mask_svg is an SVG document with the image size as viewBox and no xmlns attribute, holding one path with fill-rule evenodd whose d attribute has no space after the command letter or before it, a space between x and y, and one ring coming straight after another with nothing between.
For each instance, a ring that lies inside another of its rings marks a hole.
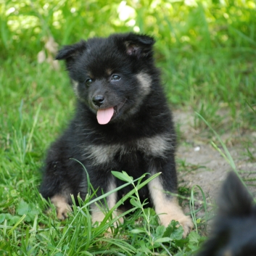
<instances>
[{"instance_id":1,"label":"blurry black dog partly visible in the bottom right corner","mask_svg":"<svg viewBox=\"0 0 256 256\"><path fill-rule=\"evenodd\" d=\"M197 256L255 256L256 205L236 173L229 173L218 205L210 239Z\"/></svg>"}]
</instances>

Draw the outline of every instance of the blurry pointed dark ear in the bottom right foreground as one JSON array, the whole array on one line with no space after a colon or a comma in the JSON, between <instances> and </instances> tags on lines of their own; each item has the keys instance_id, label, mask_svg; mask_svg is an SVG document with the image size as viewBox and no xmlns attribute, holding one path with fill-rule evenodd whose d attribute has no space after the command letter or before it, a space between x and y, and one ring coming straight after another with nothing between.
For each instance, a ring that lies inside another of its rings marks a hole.
<instances>
[{"instance_id":1,"label":"blurry pointed dark ear in the bottom right foreground","mask_svg":"<svg viewBox=\"0 0 256 256\"><path fill-rule=\"evenodd\" d=\"M218 199L219 214L228 217L247 216L252 212L252 197L236 173L228 173Z\"/></svg>"}]
</instances>

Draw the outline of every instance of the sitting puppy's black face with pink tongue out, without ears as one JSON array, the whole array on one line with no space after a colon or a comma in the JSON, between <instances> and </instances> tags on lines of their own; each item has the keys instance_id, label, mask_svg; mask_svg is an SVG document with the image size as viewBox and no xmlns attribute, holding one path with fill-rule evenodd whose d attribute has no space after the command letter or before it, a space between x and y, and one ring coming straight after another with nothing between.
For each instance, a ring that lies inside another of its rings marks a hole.
<instances>
[{"instance_id":1,"label":"sitting puppy's black face with pink tongue out, without ears","mask_svg":"<svg viewBox=\"0 0 256 256\"><path fill-rule=\"evenodd\" d=\"M95 49L91 51L85 51L78 60L76 80L73 78L75 94L95 113L100 124L123 119L137 105L141 92L138 75L132 73L131 62L116 52L102 58ZM150 87L150 83L146 86Z\"/></svg>"}]
</instances>

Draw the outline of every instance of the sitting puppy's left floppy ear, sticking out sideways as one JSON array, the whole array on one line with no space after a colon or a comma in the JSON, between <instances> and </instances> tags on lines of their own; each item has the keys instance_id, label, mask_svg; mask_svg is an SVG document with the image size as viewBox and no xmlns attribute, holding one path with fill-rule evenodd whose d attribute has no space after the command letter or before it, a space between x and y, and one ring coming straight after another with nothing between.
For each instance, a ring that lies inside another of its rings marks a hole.
<instances>
[{"instance_id":1,"label":"sitting puppy's left floppy ear, sticking out sideways","mask_svg":"<svg viewBox=\"0 0 256 256\"><path fill-rule=\"evenodd\" d=\"M86 41L81 40L77 44L72 44L70 46L64 46L61 50L58 51L55 59L65 59L66 62L72 62L73 59L78 57L83 51L86 50Z\"/></svg>"}]
</instances>

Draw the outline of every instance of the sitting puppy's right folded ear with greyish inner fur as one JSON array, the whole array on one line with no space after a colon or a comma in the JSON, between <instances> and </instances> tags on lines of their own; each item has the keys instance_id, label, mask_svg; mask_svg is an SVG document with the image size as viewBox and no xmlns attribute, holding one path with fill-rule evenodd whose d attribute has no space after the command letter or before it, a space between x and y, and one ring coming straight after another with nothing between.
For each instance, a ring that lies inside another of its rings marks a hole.
<instances>
[{"instance_id":1,"label":"sitting puppy's right folded ear with greyish inner fur","mask_svg":"<svg viewBox=\"0 0 256 256\"><path fill-rule=\"evenodd\" d=\"M155 41L150 36L129 33L123 41L128 55L136 56L138 59L152 55L152 46Z\"/></svg>"}]
</instances>

